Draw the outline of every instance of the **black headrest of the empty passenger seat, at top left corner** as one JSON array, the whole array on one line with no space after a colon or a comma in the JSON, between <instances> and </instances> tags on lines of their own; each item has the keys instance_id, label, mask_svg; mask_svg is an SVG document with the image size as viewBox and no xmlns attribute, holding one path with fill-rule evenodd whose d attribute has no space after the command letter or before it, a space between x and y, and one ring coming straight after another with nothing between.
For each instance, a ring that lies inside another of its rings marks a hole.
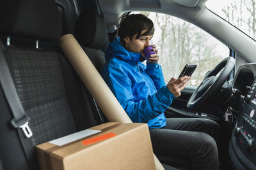
<instances>
[{"instance_id":1,"label":"black headrest of the empty passenger seat, at top left corner","mask_svg":"<svg viewBox=\"0 0 256 170\"><path fill-rule=\"evenodd\" d=\"M61 18L54 0L3 0L0 34L44 41L61 36Z\"/></svg>"}]
</instances>

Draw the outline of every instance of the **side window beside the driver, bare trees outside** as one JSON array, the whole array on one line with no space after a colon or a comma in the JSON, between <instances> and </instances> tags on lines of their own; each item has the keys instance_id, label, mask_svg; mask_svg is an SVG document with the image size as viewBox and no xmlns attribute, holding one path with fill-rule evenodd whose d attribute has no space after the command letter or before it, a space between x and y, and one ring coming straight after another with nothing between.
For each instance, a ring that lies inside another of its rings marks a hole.
<instances>
[{"instance_id":1,"label":"side window beside the driver, bare trees outside","mask_svg":"<svg viewBox=\"0 0 256 170\"><path fill-rule=\"evenodd\" d=\"M162 13L140 12L155 25L152 44L158 48L164 79L178 78L186 64L198 64L190 85L199 85L207 71L228 57L229 48L189 22Z\"/></svg>"}]
</instances>

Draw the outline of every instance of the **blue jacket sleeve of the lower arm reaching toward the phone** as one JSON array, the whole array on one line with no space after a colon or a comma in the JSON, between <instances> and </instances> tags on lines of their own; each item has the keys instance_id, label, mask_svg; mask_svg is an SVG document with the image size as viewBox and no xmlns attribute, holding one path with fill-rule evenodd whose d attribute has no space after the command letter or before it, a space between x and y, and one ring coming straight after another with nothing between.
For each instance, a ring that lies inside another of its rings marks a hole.
<instances>
[{"instance_id":1,"label":"blue jacket sleeve of the lower arm reaching toward the phone","mask_svg":"<svg viewBox=\"0 0 256 170\"><path fill-rule=\"evenodd\" d=\"M122 69L117 67L105 67L102 77L118 99L121 106L131 118L132 122L147 123L157 117L172 104L175 96L164 85L155 94L139 102L134 101L131 81Z\"/></svg>"}]
</instances>

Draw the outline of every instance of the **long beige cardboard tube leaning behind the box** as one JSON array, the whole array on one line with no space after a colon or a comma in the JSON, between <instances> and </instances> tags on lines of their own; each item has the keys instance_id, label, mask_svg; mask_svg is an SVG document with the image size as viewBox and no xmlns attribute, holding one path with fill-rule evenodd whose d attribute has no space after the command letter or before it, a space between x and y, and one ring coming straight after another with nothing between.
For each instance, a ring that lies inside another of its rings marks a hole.
<instances>
[{"instance_id":1,"label":"long beige cardboard tube leaning behind the box","mask_svg":"<svg viewBox=\"0 0 256 170\"><path fill-rule=\"evenodd\" d=\"M106 118L110 122L132 123L74 36L72 34L62 36L60 38L60 47L84 85L90 91L97 104L99 104ZM157 169L164 169L156 155L154 155L154 160Z\"/></svg>"}]
</instances>

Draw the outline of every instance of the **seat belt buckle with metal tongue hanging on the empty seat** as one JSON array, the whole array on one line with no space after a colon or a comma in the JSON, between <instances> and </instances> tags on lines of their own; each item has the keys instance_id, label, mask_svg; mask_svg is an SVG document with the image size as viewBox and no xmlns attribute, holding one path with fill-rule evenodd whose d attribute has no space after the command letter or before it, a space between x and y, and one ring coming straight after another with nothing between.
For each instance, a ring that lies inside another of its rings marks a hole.
<instances>
[{"instance_id":1,"label":"seat belt buckle with metal tongue hanging on the empty seat","mask_svg":"<svg viewBox=\"0 0 256 170\"><path fill-rule=\"evenodd\" d=\"M31 131L29 125L28 125L29 120L30 120L29 117L22 118L22 120L19 120L18 122L16 122L15 119L13 119L11 121L11 124L15 128L22 129L22 131L24 132L25 136L27 138L30 138L31 136L33 136L33 133L32 133L32 131Z\"/></svg>"}]
</instances>

